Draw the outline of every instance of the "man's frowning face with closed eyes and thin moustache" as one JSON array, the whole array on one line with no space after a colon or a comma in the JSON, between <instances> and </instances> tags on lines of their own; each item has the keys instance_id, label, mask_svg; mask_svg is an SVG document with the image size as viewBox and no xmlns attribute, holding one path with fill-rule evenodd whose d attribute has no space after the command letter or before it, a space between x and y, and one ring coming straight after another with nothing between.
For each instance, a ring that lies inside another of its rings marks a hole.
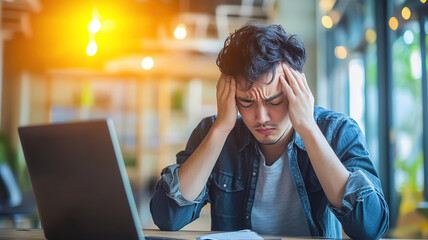
<instances>
[{"instance_id":1,"label":"man's frowning face with closed eyes and thin moustache","mask_svg":"<svg viewBox=\"0 0 428 240\"><path fill-rule=\"evenodd\" d=\"M281 65L276 67L274 80L272 74L260 77L247 90L248 83L238 81L236 103L245 125L250 129L260 144L273 145L283 139L284 133L290 129L288 100L282 89L279 76L284 76Z\"/></svg>"}]
</instances>

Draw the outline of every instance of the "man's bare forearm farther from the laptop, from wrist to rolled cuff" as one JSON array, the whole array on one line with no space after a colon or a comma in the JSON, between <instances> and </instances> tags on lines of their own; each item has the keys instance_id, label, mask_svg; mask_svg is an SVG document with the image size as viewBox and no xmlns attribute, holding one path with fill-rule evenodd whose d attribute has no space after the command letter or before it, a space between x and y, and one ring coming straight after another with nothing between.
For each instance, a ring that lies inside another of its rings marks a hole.
<instances>
[{"instance_id":1,"label":"man's bare forearm farther from the laptop, from wrist to rolled cuff","mask_svg":"<svg viewBox=\"0 0 428 240\"><path fill-rule=\"evenodd\" d=\"M300 135L328 200L334 207L340 208L349 171L336 156L316 124Z\"/></svg>"}]
</instances>

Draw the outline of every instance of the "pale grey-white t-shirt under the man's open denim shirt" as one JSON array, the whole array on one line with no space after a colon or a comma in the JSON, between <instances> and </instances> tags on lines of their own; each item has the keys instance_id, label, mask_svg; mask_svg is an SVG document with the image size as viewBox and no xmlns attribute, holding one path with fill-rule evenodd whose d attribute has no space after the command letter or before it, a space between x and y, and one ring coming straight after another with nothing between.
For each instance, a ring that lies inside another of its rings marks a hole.
<instances>
[{"instance_id":1,"label":"pale grey-white t-shirt under the man's open denim shirt","mask_svg":"<svg viewBox=\"0 0 428 240\"><path fill-rule=\"evenodd\" d=\"M266 235L311 235L291 177L287 151L271 166L261 158L251 226L253 231Z\"/></svg>"}]
</instances>

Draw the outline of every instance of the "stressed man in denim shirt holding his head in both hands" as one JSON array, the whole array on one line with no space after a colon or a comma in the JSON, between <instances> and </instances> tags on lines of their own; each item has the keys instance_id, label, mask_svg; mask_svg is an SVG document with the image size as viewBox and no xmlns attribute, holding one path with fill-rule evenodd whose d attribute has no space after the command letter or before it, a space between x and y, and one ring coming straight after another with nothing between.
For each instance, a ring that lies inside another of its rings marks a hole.
<instances>
[{"instance_id":1,"label":"stressed man in denim shirt holding his head in both hands","mask_svg":"<svg viewBox=\"0 0 428 240\"><path fill-rule=\"evenodd\" d=\"M249 24L226 40L217 116L196 127L150 202L160 229L181 229L210 202L216 231L386 233L388 207L364 136L351 118L314 107L306 58L279 25Z\"/></svg>"}]
</instances>

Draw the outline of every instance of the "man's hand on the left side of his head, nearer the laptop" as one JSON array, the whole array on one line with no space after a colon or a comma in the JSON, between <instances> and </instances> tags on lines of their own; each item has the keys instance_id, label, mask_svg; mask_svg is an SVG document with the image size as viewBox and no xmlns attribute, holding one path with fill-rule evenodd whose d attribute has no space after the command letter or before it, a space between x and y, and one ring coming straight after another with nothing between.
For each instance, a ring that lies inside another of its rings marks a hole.
<instances>
[{"instance_id":1,"label":"man's hand on the left side of his head, nearer the laptop","mask_svg":"<svg viewBox=\"0 0 428 240\"><path fill-rule=\"evenodd\" d=\"M213 127L232 131L238 117L235 96L236 80L222 73L217 82L217 119Z\"/></svg>"}]
</instances>

